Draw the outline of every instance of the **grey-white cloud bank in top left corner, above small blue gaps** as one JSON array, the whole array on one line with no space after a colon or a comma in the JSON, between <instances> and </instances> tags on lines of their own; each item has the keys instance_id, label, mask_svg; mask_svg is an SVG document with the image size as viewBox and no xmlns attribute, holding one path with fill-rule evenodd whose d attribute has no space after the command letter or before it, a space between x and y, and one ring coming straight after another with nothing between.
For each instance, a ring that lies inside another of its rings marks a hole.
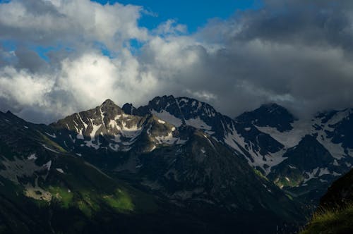
<instances>
[{"instance_id":1,"label":"grey-white cloud bank in top left corner, above small blue gaps","mask_svg":"<svg viewBox=\"0 0 353 234\"><path fill-rule=\"evenodd\" d=\"M13 0L0 4L0 38L45 44L102 42L120 49L129 39L148 39L138 27L140 6L88 0Z\"/></svg>"}]
</instances>

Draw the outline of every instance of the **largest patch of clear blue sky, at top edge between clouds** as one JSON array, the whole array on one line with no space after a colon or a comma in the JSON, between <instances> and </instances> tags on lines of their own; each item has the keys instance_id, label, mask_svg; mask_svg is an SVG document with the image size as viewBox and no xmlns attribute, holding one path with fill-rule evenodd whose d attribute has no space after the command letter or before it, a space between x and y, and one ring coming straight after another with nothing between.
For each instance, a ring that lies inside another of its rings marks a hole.
<instances>
[{"instance_id":1,"label":"largest patch of clear blue sky, at top edge between clouds","mask_svg":"<svg viewBox=\"0 0 353 234\"><path fill-rule=\"evenodd\" d=\"M188 27L189 32L195 32L210 18L227 19L237 11L258 8L260 0L213 0L213 1L155 1L155 0L94 0L100 4L133 4L143 6L145 10L155 13L155 16L145 15L140 20L140 25L149 29L157 27L168 19L177 20L177 23Z\"/></svg>"}]
</instances>

